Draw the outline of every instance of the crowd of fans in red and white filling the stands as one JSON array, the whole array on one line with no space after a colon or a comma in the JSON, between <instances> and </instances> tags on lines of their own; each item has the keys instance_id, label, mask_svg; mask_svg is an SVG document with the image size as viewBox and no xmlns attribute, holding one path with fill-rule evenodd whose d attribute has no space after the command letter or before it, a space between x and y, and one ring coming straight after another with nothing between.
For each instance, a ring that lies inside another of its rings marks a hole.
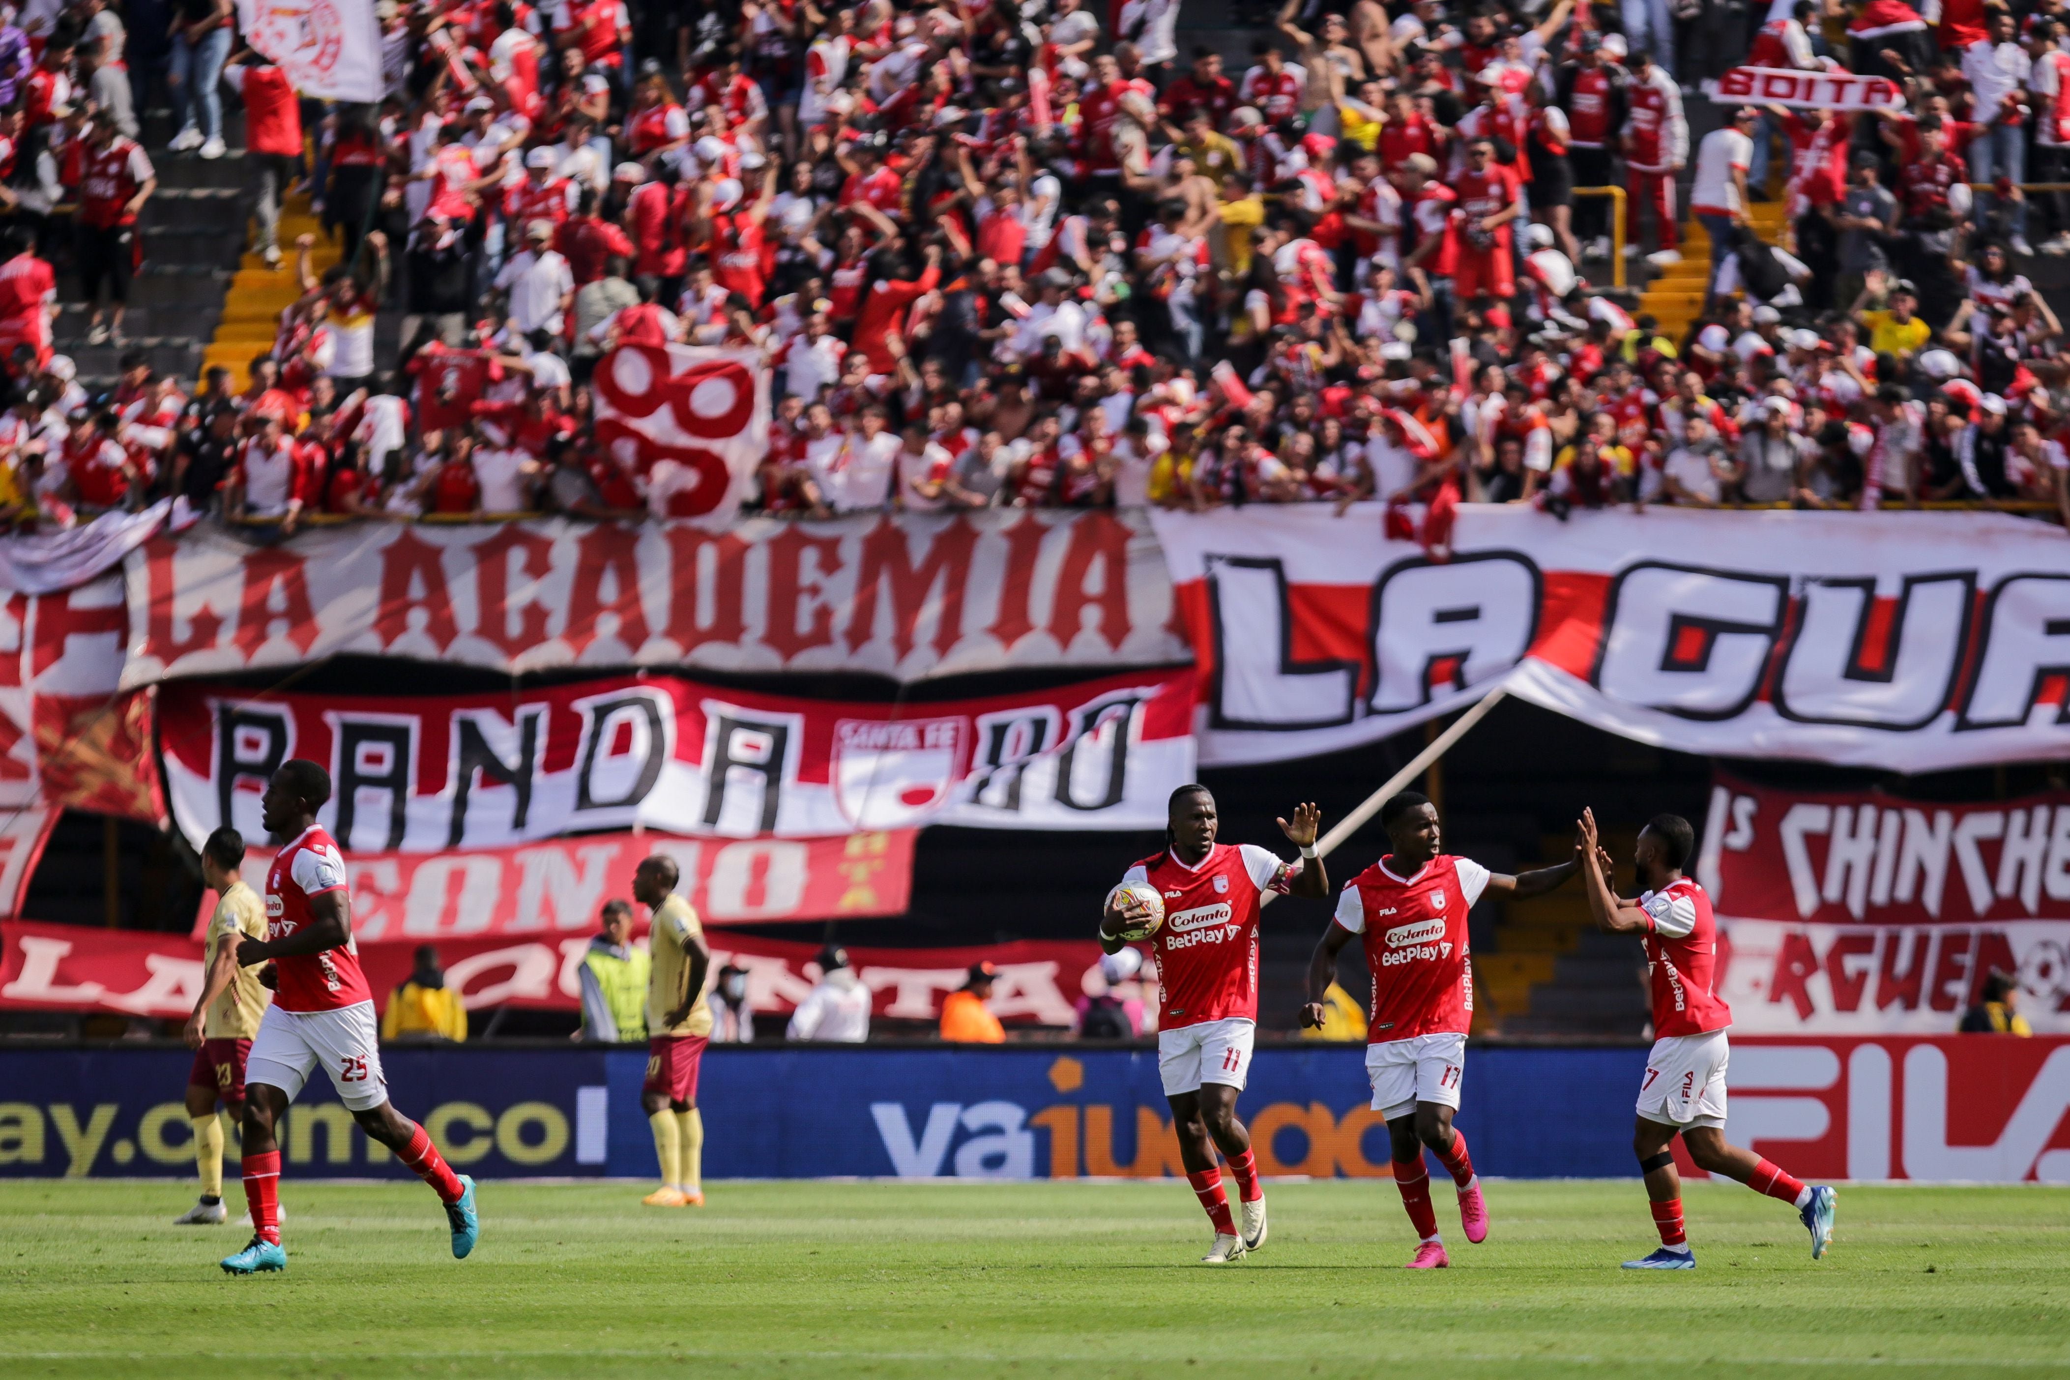
<instances>
[{"instance_id":1,"label":"crowd of fans in red and white filling the stands","mask_svg":"<svg viewBox=\"0 0 2070 1380\"><path fill-rule=\"evenodd\" d=\"M387 97L327 106L182 0L157 157L219 157L236 89L255 252L302 288L193 395L145 354L89 395L52 354L52 259L124 343L147 87L106 0L0 8L0 511L669 515L588 387L664 341L766 358L768 513L1383 499L1435 540L1457 501L2064 503L2062 329L2018 267L2029 232L2070 248L2070 197L2016 186L2070 172L2060 0L1776 0L1753 35L1468 4L1288 0L1225 72L1178 0L381 0ZM1906 108L1716 108L1691 141L1749 37ZM1666 267L1685 170L1716 277L1670 339L1590 281L1613 211L1575 188L1625 186L1625 252ZM321 273L275 242L298 180Z\"/></svg>"}]
</instances>

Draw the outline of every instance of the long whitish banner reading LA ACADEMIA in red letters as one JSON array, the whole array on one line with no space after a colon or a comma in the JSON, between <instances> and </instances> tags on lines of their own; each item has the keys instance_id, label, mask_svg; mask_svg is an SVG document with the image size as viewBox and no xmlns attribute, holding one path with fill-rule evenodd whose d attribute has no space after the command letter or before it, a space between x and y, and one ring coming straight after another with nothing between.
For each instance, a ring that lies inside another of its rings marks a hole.
<instances>
[{"instance_id":1,"label":"long whitish banner reading LA ACADEMIA in red letters","mask_svg":"<svg viewBox=\"0 0 2070 1380\"><path fill-rule=\"evenodd\" d=\"M495 670L1184 662L1141 515L994 509L824 523L356 523L255 546L215 523L126 563L124 687L356 652Z\"/></svg>"}]
</instances>

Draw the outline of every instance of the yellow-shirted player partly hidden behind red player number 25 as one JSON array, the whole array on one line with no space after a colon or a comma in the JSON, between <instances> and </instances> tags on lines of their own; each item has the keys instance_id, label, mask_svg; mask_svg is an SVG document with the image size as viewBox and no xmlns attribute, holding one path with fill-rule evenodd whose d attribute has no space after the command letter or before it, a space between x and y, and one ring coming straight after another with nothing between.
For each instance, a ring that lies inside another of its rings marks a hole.
<instances>
[{"instance_id":1,"label":"yellow-shirted player partly hidden behind red player number 25","mask_svg":"<svg viewBox=\"0 0 2070 1380\"><path fill-rule=\"evenodd\" d=\"M236 830L215 830L201 844L201 877L215 892L209 917L201 999L186 1018L186 1045L195 1068L186 1076L186 1115L195 1121L195 1165L201 1169L201 1202L176 1217L182 1227L203 1227L230 1219L224 1208L224 1123L215 1115L221 1099L230 1117L244 1121L244 1055L273 995L259 983L263 964L240 968L238 943L265 939L265 902L240 875L244 838Z\"/></svg>"}]
</instances>

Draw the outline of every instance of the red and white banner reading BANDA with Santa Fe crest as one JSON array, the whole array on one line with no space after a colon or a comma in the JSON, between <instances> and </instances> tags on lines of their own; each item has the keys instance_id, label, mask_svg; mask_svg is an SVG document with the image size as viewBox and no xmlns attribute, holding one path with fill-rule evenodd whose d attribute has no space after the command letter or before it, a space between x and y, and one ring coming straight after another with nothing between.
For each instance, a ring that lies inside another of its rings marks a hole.
<instances>
[{"instance_id":1,"label":"red and white banner reading BANDA with Santa Fe crest","mask_svg":"<svg viewBox=\"0 0 2070 1380\"><path fill-rule=\"evenodd\" d=\"M963 823L1163 828L1192 780L1192 668L929 703L840 703L613 677L499 695L159 691L172 815L197 848L265 838L288 757L331 772L348 852L503 848L633 826L809 838Z\"/></svg>"}]
</instances>

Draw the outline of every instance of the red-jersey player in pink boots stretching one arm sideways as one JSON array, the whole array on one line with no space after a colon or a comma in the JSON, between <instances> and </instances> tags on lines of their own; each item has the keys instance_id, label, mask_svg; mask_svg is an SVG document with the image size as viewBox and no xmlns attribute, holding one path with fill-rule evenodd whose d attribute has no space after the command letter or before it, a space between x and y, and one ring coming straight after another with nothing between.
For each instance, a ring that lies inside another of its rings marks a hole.
<instances>
[{"instance_id":1,"label":"red-jersey player in pink boots stretching one arm sideways","mask_svg":"<svg viewBox=\"0 0 2070 1380\"><path fill-rule=\"evenodd\" d=\"M1395 1188L1418 1237L1408 1268L1443 1270L1451 1260L1430 1206L1424 1146L1459 1190L1466 1239L1488 1239L1488 1204L1480 1196L1466 1136L1451 1126L1466 1076L1466 1030L1474 1024L1466 912L1482 896L1542 896L1575 875L1581 863L1569 859L1509 877L1441 852L1437 807L1414 790L1381 805L1381 828L1393 852L1343 888L1337 914L1308 960L1308 1006L1300 1020L1304 1026L1323 1024L1323 993L1337 972L1337 954L1358 935L1372 972L1366 1022L1372 1109L1387 1117Z\"/></svg>"}]
</instances>

